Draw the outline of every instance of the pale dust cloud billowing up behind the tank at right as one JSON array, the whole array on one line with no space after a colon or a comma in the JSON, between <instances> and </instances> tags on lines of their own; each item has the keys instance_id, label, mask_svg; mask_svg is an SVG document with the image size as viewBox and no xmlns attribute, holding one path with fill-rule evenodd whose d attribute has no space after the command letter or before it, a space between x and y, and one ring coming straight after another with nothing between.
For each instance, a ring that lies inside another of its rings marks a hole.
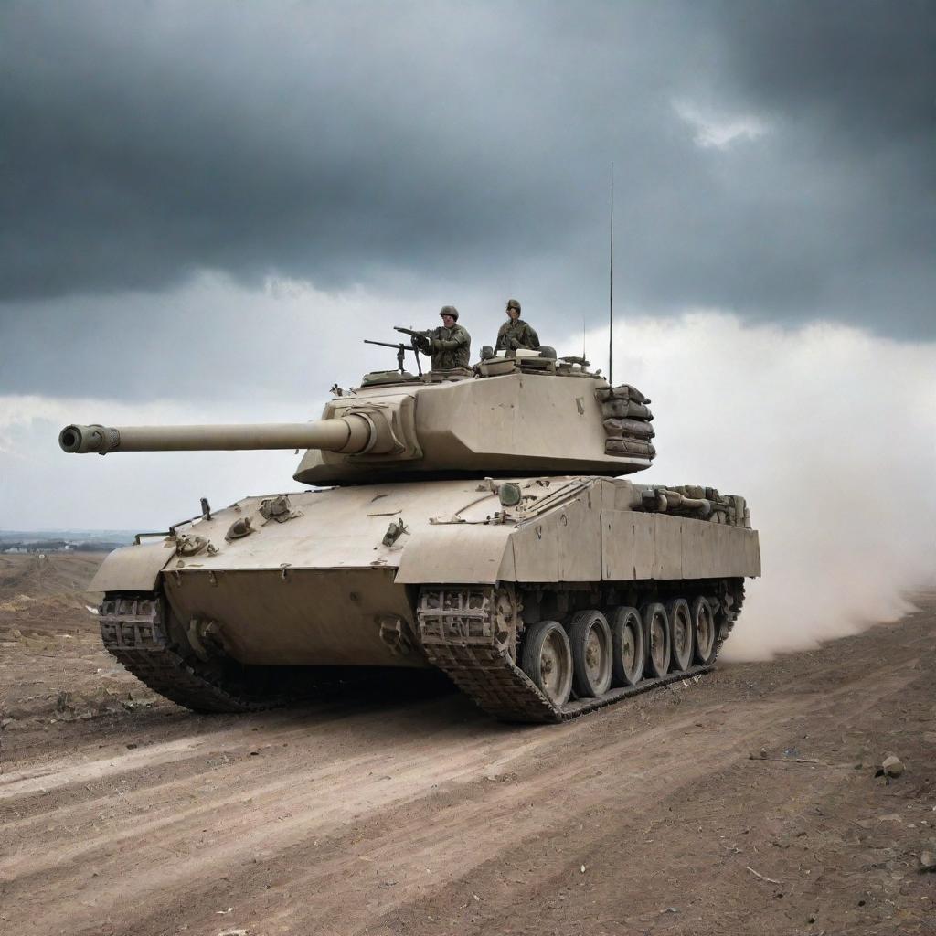
<instances>
[{"instance_id":1,"label":"pale dust cloud billowing up behind the tank at right","mask_svg":"<svg viewBox=\"0 0 936 936\"><path fill-rule=\"evenodd\" d=\"M727 659L911 607L936 568L936 344L709 312L615 324L616 380L653 400L660 454L640 480L744 494L761 531L764 578Z\"/></svg>"}]
</instances>

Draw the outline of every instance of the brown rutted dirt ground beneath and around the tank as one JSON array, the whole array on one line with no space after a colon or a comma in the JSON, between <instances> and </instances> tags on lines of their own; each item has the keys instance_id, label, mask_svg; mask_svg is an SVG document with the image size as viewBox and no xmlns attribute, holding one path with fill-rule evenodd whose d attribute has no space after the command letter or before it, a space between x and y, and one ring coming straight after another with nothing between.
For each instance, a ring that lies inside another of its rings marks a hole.
<instances>
[{"instance_id":1,"label":"brown rutted dirt ground beneath and around the tank","mask_svg":"<svg viewBox=\"0 0 936 936\"><path fill-rule=\"evenodd\" d=\"M195 716L68 581L0 575L0 932L936 933L936 594L523 728L437 689Z\"/></svg>"}]
</instances>

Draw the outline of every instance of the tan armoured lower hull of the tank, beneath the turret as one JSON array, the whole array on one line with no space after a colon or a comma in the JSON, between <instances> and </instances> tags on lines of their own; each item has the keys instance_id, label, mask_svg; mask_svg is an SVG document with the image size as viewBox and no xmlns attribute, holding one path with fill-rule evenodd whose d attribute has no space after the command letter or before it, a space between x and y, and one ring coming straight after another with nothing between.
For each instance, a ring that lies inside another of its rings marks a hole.
<instances>
[{"instance_id":1,"label":"tan armoured lower hull of the tank, beneath the turret","mask_svg":"<svg viewBox=\"0 0 936 936\"><path fill-rule=\"evenodd\" d=\"M513 483L512 507L502 504L503 482L476 478L302 491L276 516L268 509L275 495L245 498L165 541L111 554L91 585L110 598L105 643L146 681L147 648L164 662L176 654L172 665L189 673L213 667L215 675L219 660L248 675L434 666L500 717L555 721L589 706L535 695L519 652L537 622L704 596L720 615L721 642L737 616L738 583L760 574L743 504L698 519L645 509L647 492L620 478ZM158 612L148 612L152 647L135 647L139 620L114 603L134 595L158 599ZM479 683L477 673L498 666L500 701L490 702L488 676ZM640 688L665 678L657 673ZM162 666L155 688L174 697L172 680ZM615 698L628 695L622 689ZM192 693L183 704L198 708L194 695L196 704ZM216 706L227 710L223 699Z\"/></svg>"}]
</instances>

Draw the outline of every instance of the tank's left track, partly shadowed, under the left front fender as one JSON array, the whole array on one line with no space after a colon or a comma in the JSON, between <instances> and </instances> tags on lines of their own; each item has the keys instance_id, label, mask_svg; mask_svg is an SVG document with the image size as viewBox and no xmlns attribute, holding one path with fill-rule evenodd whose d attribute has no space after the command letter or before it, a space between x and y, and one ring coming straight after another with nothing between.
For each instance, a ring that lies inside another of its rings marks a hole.
<instances>
[{"instance_id":1,"label":"tank's left track, partly shadowed, under the left front fender","mask_svg":"<svg viewBox=\"0 0 936 936\"><path fill-rule=\"evenodd\" d=\"M162 596L108 593L98 608L105 649L159 695L197 712L249 712L290 701L280 693L248 692L223 667L186 661L168 637Z\"/></svg>"}]
</instances>

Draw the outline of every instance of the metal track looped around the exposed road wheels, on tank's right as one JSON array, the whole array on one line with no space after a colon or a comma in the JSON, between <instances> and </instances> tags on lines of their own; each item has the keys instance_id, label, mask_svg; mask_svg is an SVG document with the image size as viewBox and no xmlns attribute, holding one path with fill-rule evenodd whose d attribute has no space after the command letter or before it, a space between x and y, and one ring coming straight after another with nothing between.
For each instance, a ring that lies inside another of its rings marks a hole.
<instances>
[{"instance_id":1,"label":"metal track looped around the exposed road wheels, on tank's right","mask_svg":"<svg viewBox=\"0 0 936 936\"><path fill-rule=\"evenodd\" d=\"M730 595L731 600L724 600ZM727 586L717 600L719 636L715 656L737 620L743 581ZM509 596L493 586L433 586L419 592L417 628L431 664L490 715L505 722L557 723L648 692L668 682L707 673L713 665L694 665L661 679L611 689L599 698L578 698L554 705L517 665L513 655L516 620L510 620ZM516 609L514 617L516 617ZM714 658L712 660L714 664Z\"/></svg>"}]
</instances>

